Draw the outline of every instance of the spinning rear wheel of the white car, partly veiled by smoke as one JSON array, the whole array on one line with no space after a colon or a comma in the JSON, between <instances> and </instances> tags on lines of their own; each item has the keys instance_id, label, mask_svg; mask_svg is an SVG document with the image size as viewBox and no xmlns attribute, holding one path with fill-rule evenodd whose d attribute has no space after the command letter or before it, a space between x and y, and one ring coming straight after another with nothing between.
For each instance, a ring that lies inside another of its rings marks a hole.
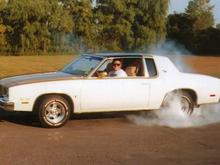
<instances>
[{"instance_id":1,"label":"spinning rear wheel of the white car, partly veiled by smoke","mask_svg":"<svg viewBox=\"0 0 220 165\"><path fill-rule=\"evenodd\" d=\"M181 102L181 110L185 112L188 116L193 113L194 110L194 101L192 96L185 91L178 91L168 94L163 102L162 108L169 107L170 102L174 100L174 98L178 98Z\"/></svg>"}]
</instances>

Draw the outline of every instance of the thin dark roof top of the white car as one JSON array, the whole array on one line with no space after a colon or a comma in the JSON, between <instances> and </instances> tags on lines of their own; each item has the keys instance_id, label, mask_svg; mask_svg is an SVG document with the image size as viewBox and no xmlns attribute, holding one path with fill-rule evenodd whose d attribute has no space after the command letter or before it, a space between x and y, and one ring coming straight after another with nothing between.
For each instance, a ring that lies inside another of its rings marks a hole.
<instances>
[{"instance_id":1,"label":"thin dark roof top of the white car","mask_svg":"<svg viewBox=\"0 0 220 165\"><path fill-rule=\"evenodd\" d=\"M152 57L153 55L144 54L144 53L91 53L91 54L83 54L87 56L95 56L101 58L123 58L123 57Z\"/></svg>"}]
</instances>

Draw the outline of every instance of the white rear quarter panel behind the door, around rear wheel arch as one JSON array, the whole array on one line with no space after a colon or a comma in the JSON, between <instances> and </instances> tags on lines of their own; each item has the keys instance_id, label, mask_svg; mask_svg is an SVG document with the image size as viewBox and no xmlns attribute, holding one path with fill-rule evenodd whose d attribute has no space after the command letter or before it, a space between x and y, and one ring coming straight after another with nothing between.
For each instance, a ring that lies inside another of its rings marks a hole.
<instances>
[{"instance_id":1,"label":"white rear quarter panel behind the door, around rear wheel arch","mask_svg":"<svg viewBox=\"0 0 220 165\"><path fill-rule=\"evenodd\" d=\"M150 79L151 109L159 109L166 94L178 90L192 90L197 104L216 103L220 98L220 80L205 75L181 73L166 57L155 57L158 76ZM215 97L210 97L215 94Z\"/></svg>"}]
</instances>

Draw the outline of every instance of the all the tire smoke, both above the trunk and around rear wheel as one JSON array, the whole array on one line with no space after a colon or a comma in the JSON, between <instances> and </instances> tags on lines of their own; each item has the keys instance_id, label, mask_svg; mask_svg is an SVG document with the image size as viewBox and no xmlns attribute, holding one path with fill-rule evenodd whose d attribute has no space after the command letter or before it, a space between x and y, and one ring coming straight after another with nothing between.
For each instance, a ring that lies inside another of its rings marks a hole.
<instances>
[{"instance_id":1,"label":"all the tire smoke, both above the trunk and around rear wheel","mask_svg":"<svg viewBox=\"0 0 220 165\"><path fill-rule=\"evenodd\" d=\"M182 72L194 72L184 62L184 56L191 53L184 46L175 42L170 41L152 46L148 49L148 52L168 56ZM179 97L173 97L168 107L151 112L142 112L140 115L130 115L127 118L137 125L158 125L172 128L199 127L220 122L220 104L210 104L195 108L192 115L189 116L182 111Z\"/></svg>"}]
</instances>

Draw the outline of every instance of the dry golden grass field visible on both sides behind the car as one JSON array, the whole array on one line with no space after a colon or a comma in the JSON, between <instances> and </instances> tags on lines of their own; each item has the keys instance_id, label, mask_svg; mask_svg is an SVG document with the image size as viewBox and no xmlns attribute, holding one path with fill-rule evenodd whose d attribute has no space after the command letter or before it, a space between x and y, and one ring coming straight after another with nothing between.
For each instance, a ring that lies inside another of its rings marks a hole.
<instances>
[{"instance_id":1,"label":"dry golden grass field visible on both sides behind the car","mask_svg":"<svg viewBox=\"0 0 220 165\"><path fill-rule=\"evenodd\" d=\"M26 73L56 71L74 59L74 56L1 56L0 78ZM220 77L220 57L184 56L193 72Z\"/></svg>"}]
</instances>

